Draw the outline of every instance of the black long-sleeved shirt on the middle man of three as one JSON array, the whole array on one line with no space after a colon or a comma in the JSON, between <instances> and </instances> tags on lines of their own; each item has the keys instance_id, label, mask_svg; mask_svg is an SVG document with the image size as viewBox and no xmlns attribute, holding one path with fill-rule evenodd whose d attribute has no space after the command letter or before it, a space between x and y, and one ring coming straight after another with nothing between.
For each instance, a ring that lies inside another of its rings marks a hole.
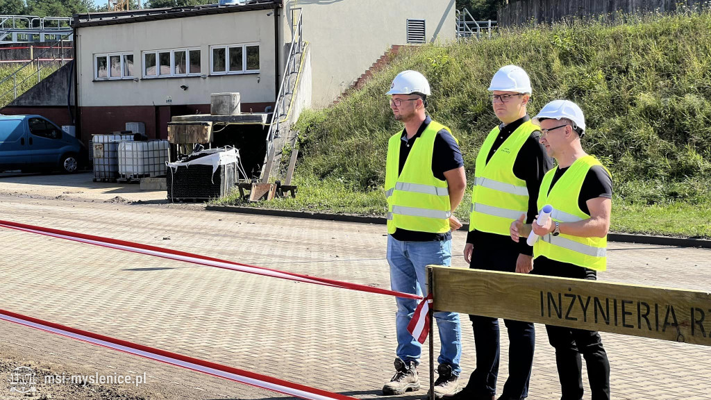
<instances>
[{"instance_id":1,"label":"black long-sleeved shirt on the middle man of three","mask_svg":"<svg viewBox=\"0 0 711 400\"><path fill-rule=\"evenodd\" d=\"M491 146L491 151L486 157L486 162L489 162L493 154L501 147L506 139L517 130L518 127L530 120L528 115L525 115L520 120L511 122L508 125L501 127L498 137ZM523 143L520 151L516 155L516 160L513 163L513 174L518 179L526 182L528 189L528 213L526 215L526 223L531 223L538 214L538 191L540 191L540 182L543 176L549 169L553 167L553 160L548 157L545 152L545 147L539 142L540 132L537 130L531 133L530 137ZM471 222L470 222L471 223ZM481 231L469 231L466 236L466 243L473 243L474 246L482 248L502 247L509 251L518 251L520 254L533 256L533 247L528 246L526 241L512 241L509 236L497 235L496 233L488 233Z\"/></svg>"}]
</instances>

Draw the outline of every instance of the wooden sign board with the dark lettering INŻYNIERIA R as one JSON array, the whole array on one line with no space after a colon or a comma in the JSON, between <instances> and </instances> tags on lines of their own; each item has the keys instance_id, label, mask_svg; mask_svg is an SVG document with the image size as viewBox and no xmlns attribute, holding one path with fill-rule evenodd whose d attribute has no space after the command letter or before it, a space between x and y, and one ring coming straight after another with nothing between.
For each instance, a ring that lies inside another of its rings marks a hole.
<instances>
[{"instance_id":1,"label":"wooden sign board with the dark lettering IN\u017bYNIERIA R","mask_svg":"<svg viewBox=\"0 0 711 400\"><path fill-rule=\"evenodd\" d=\"M708 292L429 268L434 310L711 346Z\"/></svg>"}]
</instances>

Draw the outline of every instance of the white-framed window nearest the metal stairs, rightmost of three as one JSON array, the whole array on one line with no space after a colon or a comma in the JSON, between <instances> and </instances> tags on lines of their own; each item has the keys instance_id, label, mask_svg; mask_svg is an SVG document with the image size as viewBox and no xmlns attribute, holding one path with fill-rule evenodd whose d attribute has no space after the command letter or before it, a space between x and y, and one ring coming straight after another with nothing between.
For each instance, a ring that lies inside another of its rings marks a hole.
<instances>
[{"instance_id":1,"label":"white-framed window nearest the metal stairs, rightmost of three","mask_svg":"<svg viewBox=\"0 0 711 400\"><path fill-rule=\"evenodd\" d=\"M257 44L232 44L212 46L210 74L225 75L260 72L260 46Z\"/></svg>"}]
</instances>

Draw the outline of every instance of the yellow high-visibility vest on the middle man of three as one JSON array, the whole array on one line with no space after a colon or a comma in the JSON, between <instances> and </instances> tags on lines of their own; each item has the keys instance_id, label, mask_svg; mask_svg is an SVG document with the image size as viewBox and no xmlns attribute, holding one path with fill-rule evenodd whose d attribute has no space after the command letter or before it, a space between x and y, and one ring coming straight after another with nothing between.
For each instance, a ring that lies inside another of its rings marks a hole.
<instances>
[{"instance_id":1,"label":"yellow high-visibility vest on the middle man of three","mask_svg":"<svg viewBox=\"0 0 711 400\"><path fill-rule=\"evenodd\" d=\"M528 213L528 188L513 174L513 164L525 141L537 130L540 128L530 121L523 122L486 162L500 130L495 127L489 132L476 156L469 231L508 236L511 222Z\"/></svg>"}]
</instances>

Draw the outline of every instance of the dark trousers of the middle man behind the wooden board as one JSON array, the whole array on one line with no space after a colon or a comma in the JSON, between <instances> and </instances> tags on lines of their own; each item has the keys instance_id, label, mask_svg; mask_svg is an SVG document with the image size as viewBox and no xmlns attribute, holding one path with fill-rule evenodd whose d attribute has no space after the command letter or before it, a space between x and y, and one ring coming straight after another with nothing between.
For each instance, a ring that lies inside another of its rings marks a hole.
<instances>
[{"instance_id":1,"label":"dark trousers of the middle man behind the wooden board","mask_svg":"<svg viewBox=\"0 0 711 400\"><path fill-rule=\"evenodd\" d=\"M515 248L497 251L494 248L475 244L469 268L514 272L517 258L518 251ZM476 397L490 399L491 396L496 395L501 352L498 319L478 315L469 315L469 319L474 328L476 369L471 373L466 390ZM508 379L503 386L501 397L525 399L528 396L528 381L533 364L535 330L531 322L504 320L504 324L508 330L509 357Z\"/></svg>"}]
</instances>

